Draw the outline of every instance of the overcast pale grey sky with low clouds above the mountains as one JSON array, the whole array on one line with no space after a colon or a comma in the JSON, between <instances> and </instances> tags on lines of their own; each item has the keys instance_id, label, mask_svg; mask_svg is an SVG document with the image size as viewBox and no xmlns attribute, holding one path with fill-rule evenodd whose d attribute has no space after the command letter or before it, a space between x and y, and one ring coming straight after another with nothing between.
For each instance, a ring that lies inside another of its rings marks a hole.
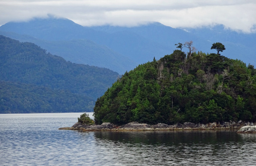
<instances>
[{"instance_id":1,"label":"overcast pale grey sky with low clouds above the mountains","mask_svg":"<svg viewBox=\"0 0 256 166\"><path fill-rule=\"evenodd\" d=\"M256 0L0 0L0 12L0 25L52 14L82 26L157 21L173 28L223 24L256 33Z\"/></svg>"}]
</instances>

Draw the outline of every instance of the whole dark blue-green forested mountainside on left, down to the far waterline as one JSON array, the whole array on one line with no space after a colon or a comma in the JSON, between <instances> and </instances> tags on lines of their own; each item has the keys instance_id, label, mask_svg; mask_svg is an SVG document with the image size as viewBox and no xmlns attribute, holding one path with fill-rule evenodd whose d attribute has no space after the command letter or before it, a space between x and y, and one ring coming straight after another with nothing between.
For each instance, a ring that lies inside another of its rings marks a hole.
<instances>
[{"instance_id":1,"label":"whole dark blue-green forested mountainside on left, down to the far waterline","mask_svg":"<svg viewBox=\"0 0 256 166\"><path fill-rule=\"evenodd\" d=\"M119 76L1 35L0 59L1 113L93 111L94 101Z\"/></svg>"}]
</instances>

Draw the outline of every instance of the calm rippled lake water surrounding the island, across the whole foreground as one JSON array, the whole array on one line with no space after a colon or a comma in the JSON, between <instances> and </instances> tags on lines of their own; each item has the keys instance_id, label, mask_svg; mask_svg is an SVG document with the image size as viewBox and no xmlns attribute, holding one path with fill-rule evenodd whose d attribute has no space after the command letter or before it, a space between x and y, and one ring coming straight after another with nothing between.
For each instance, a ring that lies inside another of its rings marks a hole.
<instances>
[{"instance_id":1,"label":"calm rippled lake water surrounding the island, across the whole foreground","mask_svg":"<svg viewBox=\"0 0 256 166\"><path fill-rule=\"evenodd\" d=\"M0 165L256 165L256 134L58 130L81 114L0 114Z\"/></svg>"}]
</instances>

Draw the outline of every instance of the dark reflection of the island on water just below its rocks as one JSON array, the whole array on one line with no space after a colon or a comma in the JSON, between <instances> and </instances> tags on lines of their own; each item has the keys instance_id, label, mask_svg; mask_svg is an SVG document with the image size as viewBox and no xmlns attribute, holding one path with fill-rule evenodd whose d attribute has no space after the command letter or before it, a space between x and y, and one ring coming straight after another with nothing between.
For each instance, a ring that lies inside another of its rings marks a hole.
<instances>
[{"instance_id":1,"label":"dark reflection of the island on water just below its rocks","mask_svg":"<svg viewBox=\"0 0 256 166\"><path fill-rule=\"evenodd\" d=\"M245 134L236 134L236 130L210 131L129 131L129 132L94 132L96 138L119 141L122 143L143 144L216 144L249 139ZM248 134L247 134L248 135ZM251 139L253 140L254 137Z\"/></svg>"}]
</instances>

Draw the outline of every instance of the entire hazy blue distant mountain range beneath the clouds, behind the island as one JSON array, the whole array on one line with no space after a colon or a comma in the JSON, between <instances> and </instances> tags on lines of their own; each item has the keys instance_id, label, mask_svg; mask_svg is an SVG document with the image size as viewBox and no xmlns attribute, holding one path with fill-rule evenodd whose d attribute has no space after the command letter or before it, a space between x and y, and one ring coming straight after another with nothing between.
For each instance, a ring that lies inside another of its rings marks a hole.
<instances>
[{"instance_id":1,"label":"entire hazy blue distant mountain range beneath the clouds, behind the island","mask_svg":"<svg viewBox=\"0 0 256 166\"><path fill-rule=\"evenodd\" d=\"M0 27L0 34L33 42L67 61L109 68L119 74L154 57L171 54L176 43L186 41L193 41L193 46L205 53L215 53L216 50L210 50L212 44L221 42L226 48L222 55L256 65L256 34L238 33L223 25L186 30L159 22L138 27L83 27L68 19L49 17L6 23Z\"/></svg>"}]
</instances>

